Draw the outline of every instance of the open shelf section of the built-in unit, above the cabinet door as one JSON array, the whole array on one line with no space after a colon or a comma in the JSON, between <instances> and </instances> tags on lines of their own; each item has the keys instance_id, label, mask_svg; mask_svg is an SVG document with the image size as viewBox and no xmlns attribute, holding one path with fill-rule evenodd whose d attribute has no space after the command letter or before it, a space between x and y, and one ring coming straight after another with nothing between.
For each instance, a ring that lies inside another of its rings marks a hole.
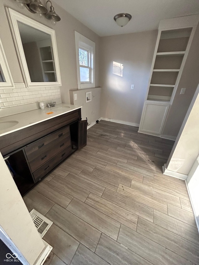
<instances>
[{"instance_id":1,"label":"open shelf section of the built-in unit, above the cabinet door","mask_svg":"<svg viewBox=\"0 0 199 265\"><path fill-rule=\"evenodd\" d=\"M161 32L147 100L171 100L191 31L185 28Z\"/></svg>"}]
</instances>

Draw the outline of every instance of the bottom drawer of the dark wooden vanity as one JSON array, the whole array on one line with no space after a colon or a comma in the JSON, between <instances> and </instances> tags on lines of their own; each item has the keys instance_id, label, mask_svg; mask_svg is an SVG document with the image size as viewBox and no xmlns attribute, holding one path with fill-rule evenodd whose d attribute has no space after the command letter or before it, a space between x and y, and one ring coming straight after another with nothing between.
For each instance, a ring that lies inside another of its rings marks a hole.
<instances>
[{"instance_id":1,"label":"bottom drawer of the dark wooden vanity","mask_svg":"<svg viewBox=\"0 0 199 265\"><path fill-rule=\"evenodd\" d=\"M58 153L55 157L46 162L43 166L39 167L34 173L35 183L46 176L54 167L56 167L60 162L67 158L71 154L71 146L68 146L62 152Z\"/></svg>"}]
</instances>

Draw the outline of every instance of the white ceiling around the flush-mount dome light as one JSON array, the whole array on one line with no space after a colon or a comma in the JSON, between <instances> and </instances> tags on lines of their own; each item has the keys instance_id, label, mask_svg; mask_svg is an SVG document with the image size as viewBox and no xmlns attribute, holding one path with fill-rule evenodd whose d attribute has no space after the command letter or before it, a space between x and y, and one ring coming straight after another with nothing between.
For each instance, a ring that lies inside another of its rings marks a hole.
<instances>
[{"instance_id":1,"label":"white ceiling around the flush-mount dome light","mask_svg":"<svg viewBox=\"0 0 199 265\"><path fill-rule=\"evenodd\" d=\"M199 13L199 0L53 1L99 36L155 30L162 19ZM123 28L113 20L118 13L132 15L131 21Z\"/></svg>"}]
</instances>

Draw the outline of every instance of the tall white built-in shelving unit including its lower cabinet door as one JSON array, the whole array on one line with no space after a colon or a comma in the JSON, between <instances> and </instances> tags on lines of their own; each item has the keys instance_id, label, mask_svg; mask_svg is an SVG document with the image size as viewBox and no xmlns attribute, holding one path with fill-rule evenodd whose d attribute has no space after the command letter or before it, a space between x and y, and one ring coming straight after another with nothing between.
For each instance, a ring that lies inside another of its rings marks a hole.
<instances>
[{"instance_id":1,"label":"tall white built-in shelving unit including its lower cabinet door","mask_svg":"<svg viewBox=\"0 0 199 265\"><path fill-rule=\"evenodd\" d=\"M198 15L160 21L138 132L162 134L198 21Z\"/></svg>"}]
</instances>

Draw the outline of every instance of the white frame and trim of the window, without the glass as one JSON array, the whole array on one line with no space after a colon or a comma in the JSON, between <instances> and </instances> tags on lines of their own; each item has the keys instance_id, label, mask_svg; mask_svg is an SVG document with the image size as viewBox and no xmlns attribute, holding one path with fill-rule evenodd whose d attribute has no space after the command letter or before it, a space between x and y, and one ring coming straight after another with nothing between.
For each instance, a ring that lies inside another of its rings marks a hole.
<instances>
[{"instance_id":1,"label":"white frame and trim of the window, without the glass","mask_svg":"<svg viewBox=\"0 0 199 265\"><path fill-rule=\"evenodd\" d=\"M79 62L79 48L88 52L88 66ZM75 31L76 68L78 89L95 87L95 42ZM89 69L89 81L80 80L80 67Z\"/></svg>"}]
</instances>

